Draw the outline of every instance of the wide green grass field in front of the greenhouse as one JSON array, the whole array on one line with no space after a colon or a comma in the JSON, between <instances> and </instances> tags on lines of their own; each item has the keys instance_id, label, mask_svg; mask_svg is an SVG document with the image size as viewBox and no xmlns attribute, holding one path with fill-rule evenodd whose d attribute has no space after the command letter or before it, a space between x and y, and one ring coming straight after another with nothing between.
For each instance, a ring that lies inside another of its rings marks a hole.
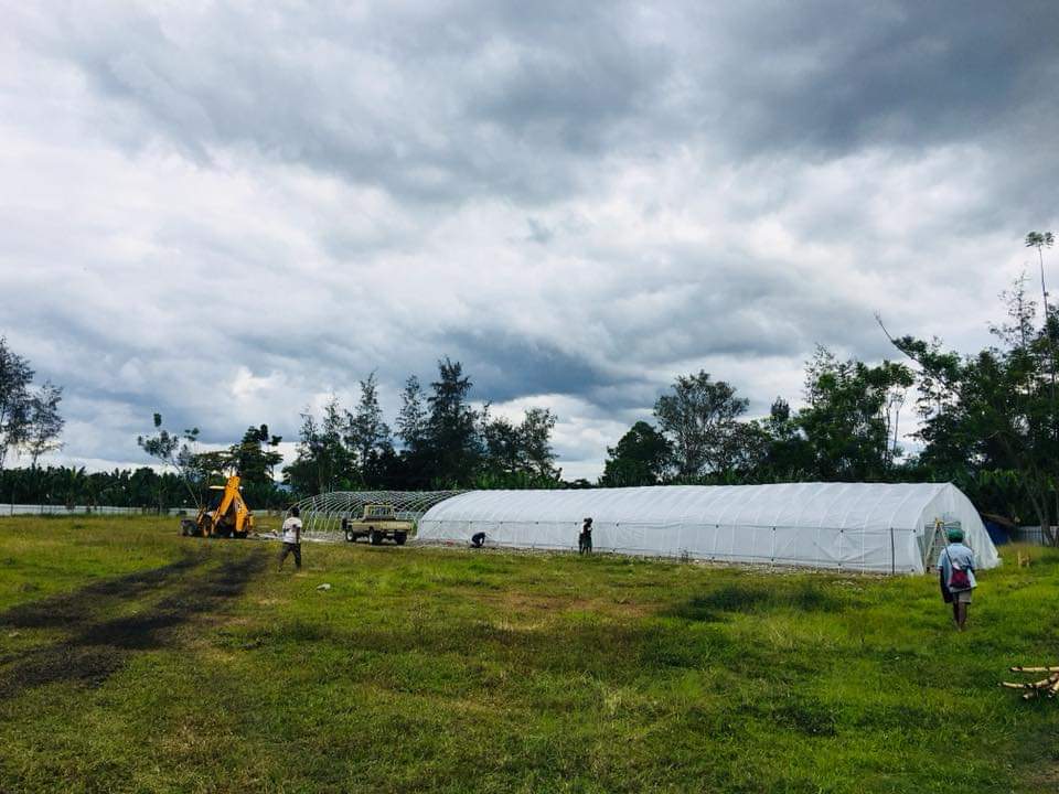
<instances>
[{"instance_id":1,"label":"wide green grass field in front of the greenhouse","mask_svg":"<svg viewBox=\"0 0 1059 794\"><path fill-rule=\"evenodd\" d=\"M997 687L1059 664L1056 552L958 634L929 577L276 550L0 519L0 791L1059 787L1059 702Z\"/></svg>"}]
</instances>

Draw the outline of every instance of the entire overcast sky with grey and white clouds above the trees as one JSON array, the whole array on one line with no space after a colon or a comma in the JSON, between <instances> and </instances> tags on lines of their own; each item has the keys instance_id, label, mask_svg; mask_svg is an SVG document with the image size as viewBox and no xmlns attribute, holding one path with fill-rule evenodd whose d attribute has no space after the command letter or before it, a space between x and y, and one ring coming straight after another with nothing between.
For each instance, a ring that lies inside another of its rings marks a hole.
<instances>
[{"instance_id":1,"label":"entire overcast sky with grey and white clouds above the trees","mask_svg":"<svg viewBox=\"0 0 1059 794\"><path fill-rule=\"evenodd\" d=\"M0 334L55 462L464 363L595 478L677 374L971 350L1059 230L1059 4L0 0ZM1059 254L1053 255L1053 262ZM1059 283L1059 267L1052 264Z\"/></svg>"}]
</instances>

